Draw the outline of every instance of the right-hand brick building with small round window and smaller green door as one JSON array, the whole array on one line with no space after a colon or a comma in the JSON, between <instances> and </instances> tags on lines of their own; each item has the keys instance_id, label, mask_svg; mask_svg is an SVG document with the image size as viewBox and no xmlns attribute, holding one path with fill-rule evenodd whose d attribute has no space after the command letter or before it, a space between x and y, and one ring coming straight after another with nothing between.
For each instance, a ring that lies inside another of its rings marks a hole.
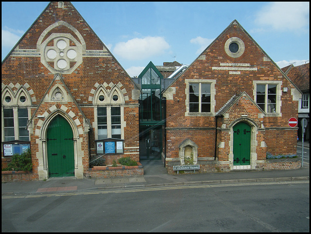
<instances>
[{"instance_id":1,"label":"right-hand brick building with small round window and smaller green door","mask_svg":"<svg viewBox=\"0 0 311 234\"><path fill-rule=\"evenodd\" d=\"M259 169L295 154L299 89L234 20L163 91L163 160L200 171Z\"/></svg>"}]
</instances>

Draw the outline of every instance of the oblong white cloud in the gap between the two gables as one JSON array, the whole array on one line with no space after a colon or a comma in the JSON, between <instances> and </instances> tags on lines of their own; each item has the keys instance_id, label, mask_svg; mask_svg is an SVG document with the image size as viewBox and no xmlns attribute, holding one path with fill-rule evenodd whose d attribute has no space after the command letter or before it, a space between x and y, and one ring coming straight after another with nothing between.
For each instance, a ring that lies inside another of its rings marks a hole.
<instances>
[{"instance_id":1,"label":"oblong white cloud in the gap between the two gables","mask_svg":"<svg viewBox=\"0 0 311 234\"><path fill-rule=\"evenodd\" d=\"M134 38L127 42L119 42L113 53L128 60L140 60L165 53L170 45L160 36Z\"/></svg>"}]
</instances>

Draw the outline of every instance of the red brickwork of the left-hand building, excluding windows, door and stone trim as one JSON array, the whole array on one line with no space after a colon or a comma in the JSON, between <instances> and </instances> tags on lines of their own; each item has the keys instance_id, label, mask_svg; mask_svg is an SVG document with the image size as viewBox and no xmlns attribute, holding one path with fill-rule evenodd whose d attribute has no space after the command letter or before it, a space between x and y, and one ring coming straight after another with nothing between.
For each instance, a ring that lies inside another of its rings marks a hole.
<instances>
[{"instance_id":1,"label":"red brickwork of the left-hand building, excluding windows, door and stone trim","mask_svg":"<svg viewBox=\"0 0 311 234\"><path fill-rule=\"evenodd\" d=\"M37 41L40 35L46 30L50 25L60 20L63 20L73 26L83 37L86 43L86 50L103 50L104 45L97 37L96 34L89 28L84 19L76 11L76 9L69 2L64 2L64 8L58 8L57 2L51 2L49 7L42 13L42 15L35 21L32 28L26 33L25 37L18 44L18 49L33 49L37 48ZM78 42L81 40L78 36L72 32L69 28L65 26L58 26L49 31L43 38L45 41L52 33L70 33ZM51 45L53 42L50 43ZM50 45L49 44L49 45ZM2 63L2 84L9 85L10 83L16 85L18 84L29 84L30 88L34 91L32 97L35 97L32 105L32 115L35 112L37 105L42 99L45 98L45 93L50 86L54 74L48 70L40 61L39 56L13 56L10 55ZM118 63L118 61L113 57L83 57L82 64L77 67L71 74L62 74L64 83L71 92L73 98L76 100L77 104L82 109L86 118L90 120L90 123L94 121L94 107L92 107L92 101L89 97L92 97L92 88L96 83L107 84L119 84L121 83L121 89L125 89L124 96L128 97L125 100L124 106L124 121L126 122L126 127L124 128L124 141L125 147L138 147L138 100L133 100L132 90L135 88L134 83L130 80L128 75L125 73L124 69ZM59 80L54 81L55 84L60 84L64 86ZM52 85L53 86L53 85ZM108 91L111 87L107 87ZM16 88L13 88L15 91ZM31 149L33 155L33 172L37 174L37 167L39 165L38 160L35 155L38 152L37 136L35 136L35 130L40 129L38 126L39 119L37 115L43 115L52 105L56 102L43 102L36 112L33 119L34 129L30 133L31 136ZM134 106L131 106L134 104ZM73 102L61 102L59 107L64 105L68 107L68 112L72 111L75 116L79 119L80 123L83 125L82 128L85 129L83 121L83 115L80 110ZM136 105L136 106L135 106ZM45 120L44 118L41 120ZM74 119L73 119L74 120ZM79 127L79 126L78 126ZM94 126L93 130L94 130ZM80 134L82 138L81 149L84 150L84 156L82 158L83 170L88 170L88 134ZM94 131L90 132L90 150L91 154L95 153L95 136ZM131 152L131 150L125 149L124 152ZM139 154L127 154L125 156L130 156L133 160L139 161ZM115 158L116 156L112 156ZM2 160L3 161L3 160ZM108 160L109 161L109 160ZM3 166L3 165L2 165Z\"/></svg>"}]
</instances>

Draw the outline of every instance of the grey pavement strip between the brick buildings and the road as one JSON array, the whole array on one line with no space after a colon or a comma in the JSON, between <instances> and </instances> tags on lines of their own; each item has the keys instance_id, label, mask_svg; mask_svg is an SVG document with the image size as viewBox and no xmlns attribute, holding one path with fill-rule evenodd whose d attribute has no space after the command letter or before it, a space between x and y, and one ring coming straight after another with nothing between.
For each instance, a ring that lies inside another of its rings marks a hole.
<instances>
[{"instance_id":1,"label":"grey pavement strip between the brick buildings and the road","mask_svg":"<svg viewBox=\"0 0 311 234\"><path fill-rule=\"evenodd\" d=\"M304 148L305 147L309 149L309 143L304 143ZM74 177L62 177L49 178L46 181L2 183L2 199L6 196L60 195L63 193L83 193L103 189L310 180L308 163L304 163L303 167L293 170L239 170L231 172L185 173L174 175L169 175L167 173L166 168L160 160L142 161L141 164L144 167L143 176L107 179L76 179Z\"/></svg>"}]
</instances>

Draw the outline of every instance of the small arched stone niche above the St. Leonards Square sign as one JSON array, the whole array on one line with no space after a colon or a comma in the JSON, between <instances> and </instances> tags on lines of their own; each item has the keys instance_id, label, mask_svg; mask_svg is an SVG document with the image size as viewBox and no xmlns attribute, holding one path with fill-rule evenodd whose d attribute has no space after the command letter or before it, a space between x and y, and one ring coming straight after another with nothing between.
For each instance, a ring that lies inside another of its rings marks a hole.
<instances>
[{"instance_id":1,"label":"small arched stone niche above the St. Leonards Square sign","mask_svg":"<svg viewBox=\"0 0 311 234\"><path fill-rule=\"evenodd\" d=\"M184 140L179 145L179 160L181 165L186 165L187 159L190 159L190 161L193 160L193 163L190 163L191 165L196 165L198 162L198 146L190 139Z\"/></svg>"}]
</instances>

